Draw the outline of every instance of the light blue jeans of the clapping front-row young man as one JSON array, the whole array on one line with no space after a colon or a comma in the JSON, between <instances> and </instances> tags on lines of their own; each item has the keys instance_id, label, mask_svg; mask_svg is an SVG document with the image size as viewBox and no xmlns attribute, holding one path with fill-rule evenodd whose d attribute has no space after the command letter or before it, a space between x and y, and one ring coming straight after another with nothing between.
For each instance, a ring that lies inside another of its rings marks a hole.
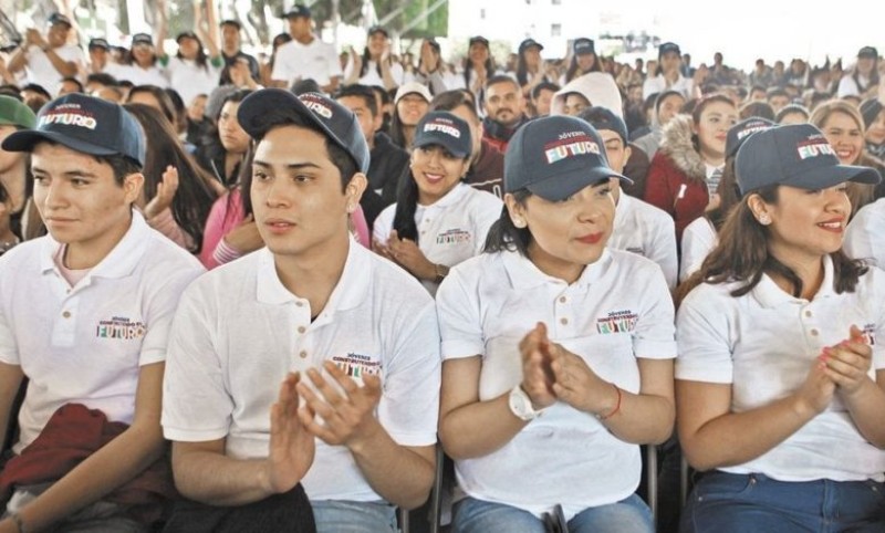
<instances>
[{"instance_id":1,"label":"light blue jeans of the clapping front-row young man","mask_svg":"<svg viewBox=\"0 0 885 533\"><path fill-rule=\"evenodd\" d=\"M396 508L387 502L313 500L316 533L396 533Z\"/></svg>"}]
</instances>

